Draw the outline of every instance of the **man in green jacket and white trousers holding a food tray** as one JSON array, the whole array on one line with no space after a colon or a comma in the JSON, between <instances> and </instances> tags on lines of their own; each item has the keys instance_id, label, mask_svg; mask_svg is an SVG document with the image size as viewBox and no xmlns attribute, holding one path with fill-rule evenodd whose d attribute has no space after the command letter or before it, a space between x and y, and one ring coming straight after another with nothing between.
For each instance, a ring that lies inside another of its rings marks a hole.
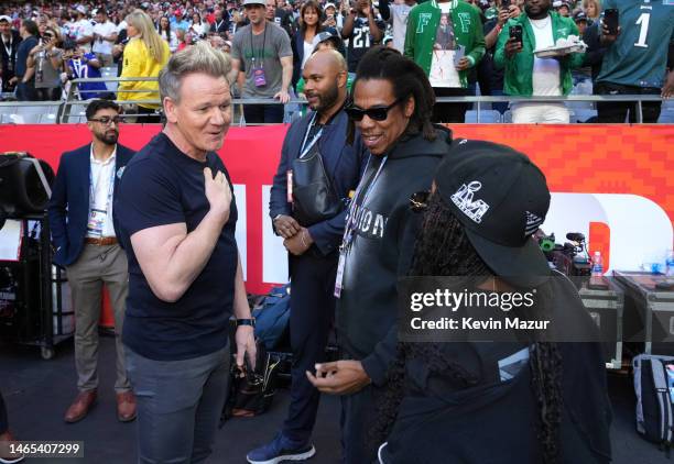
<instances>
[{"instance_id":1,"label":"man in green jacket and white trousers holding a food tray","mask_svg":"<svg viewBox=\"0 0 674 464\"><path fill-rule=\"evenodd\" d=\"M534 51L556 44L558 38L578 35L570 18L551 11L551 0L526 0L524 11L509 20L499 35L493 64L506 68L503 92L523 97L566 96L573 88L572 69L580 67L584 53L554 58L537 58ZM522 42L510 37L513 26L522 27ZM514 123L568 123L564 102L523 102L511 104Z\"/></svg>"}]
</instances>

